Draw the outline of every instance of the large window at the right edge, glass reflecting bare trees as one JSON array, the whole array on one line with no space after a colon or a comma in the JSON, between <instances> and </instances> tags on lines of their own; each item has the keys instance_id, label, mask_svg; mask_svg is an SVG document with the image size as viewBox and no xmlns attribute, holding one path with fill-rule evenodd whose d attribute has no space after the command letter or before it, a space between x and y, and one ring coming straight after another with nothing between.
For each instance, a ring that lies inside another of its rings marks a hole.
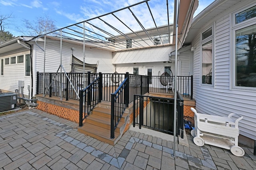
<instances>
[{"instance_id":1,"label":"large window at the right edge, glass reflecting bare trees","mask_svg":"<svg viewBox=\"0 0 256 170\"><path fill-rule=\"evenodd\" d=\"M256 90L256 6L233 14L232 87Z\"/></svg>"}]
</instances>

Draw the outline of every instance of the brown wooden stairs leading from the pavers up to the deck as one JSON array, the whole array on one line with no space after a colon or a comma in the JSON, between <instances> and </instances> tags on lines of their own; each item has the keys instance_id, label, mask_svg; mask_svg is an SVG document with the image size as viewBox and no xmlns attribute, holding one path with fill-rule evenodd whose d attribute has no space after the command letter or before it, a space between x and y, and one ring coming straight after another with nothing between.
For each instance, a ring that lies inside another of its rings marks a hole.
<instances>
[{"instance_id":1,"label":"brown wooden stairs leading from the pavers up to the deck","mask_svg":"<svg viewBox=\"0 0 256 170\"><path fill-rule=\"evenodd\" d=\"M118 126L115 129L115 138L110 139L110 102L102 102L98 107L94 108L92 113L86 117L86 121L82 127L78 127L78 131L90 137L94 137L102 142L114 145L122 137L129 115L129 109L126 109Z\"/></svg>"}]
</instances>

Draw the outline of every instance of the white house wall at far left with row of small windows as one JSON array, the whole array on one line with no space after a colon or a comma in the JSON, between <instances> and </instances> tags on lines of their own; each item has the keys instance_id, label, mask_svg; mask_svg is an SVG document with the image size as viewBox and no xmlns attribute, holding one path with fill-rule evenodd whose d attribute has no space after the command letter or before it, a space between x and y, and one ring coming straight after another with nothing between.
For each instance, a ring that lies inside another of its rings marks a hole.
<instances>
[{"instance_id":1,"label":"white house wall at far left with row of small windows","mask_svg":"<svg viewBox=\"0 0 256 170\"><path fill-rule=\"evenodd\" d=\"M30 54L30 51L25 48L12 51L0 56L1 59L24 55L23 63L15 63L4 65L4 75L0 75L0 89L2 92L15 92L18 89L18 80L24 81L24 95L28 95L28 85L30 85L30 76L25 76L25 55ZM17 59L16 59L17 60Z\"/></svg>"}]
</instances>

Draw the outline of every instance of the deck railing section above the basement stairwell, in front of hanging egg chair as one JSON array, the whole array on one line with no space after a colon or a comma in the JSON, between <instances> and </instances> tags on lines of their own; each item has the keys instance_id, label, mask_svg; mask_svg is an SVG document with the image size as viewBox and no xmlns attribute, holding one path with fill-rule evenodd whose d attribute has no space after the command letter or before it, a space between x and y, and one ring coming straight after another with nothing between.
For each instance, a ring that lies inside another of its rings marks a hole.
<instances>
[{"instance_id":1,"label":"deck railing section above the basement stairwell, in front of hanging egg chair","mask_svg":"<svg viewBox=\"0 0 256 170\"><path fill-rule=\"evenodd\" d=\"M172 80L171 82L161 83L160 79L165 77L164 80ZM176 76L177 90L183 97L190 97L193 99L193 76ZM151 81L149 84L149 92L157 93L168 93L174 94L174 76L169 78L169 76L151 76Z\"/></svg>"}]
</instances>

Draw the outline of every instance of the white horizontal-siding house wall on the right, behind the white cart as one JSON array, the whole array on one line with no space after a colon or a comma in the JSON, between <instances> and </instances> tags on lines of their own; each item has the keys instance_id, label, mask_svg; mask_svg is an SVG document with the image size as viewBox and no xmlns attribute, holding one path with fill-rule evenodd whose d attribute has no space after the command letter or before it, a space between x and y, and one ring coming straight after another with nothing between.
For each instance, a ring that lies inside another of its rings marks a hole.
<instances>
[{"instance_id":1,"label":"white horizontal-siding house wall on the right, behind the white cart","mask_svg":"<svg viewBox=\"0 0 256 170\"><path fill-rule=\"evenodd\" d=\"M251 1L250 1L251 2ZM192 42L194 50L194 99L200 113L227 116L234 112L243 116L239 123L240 134L256 140L256 89L239 90L232 88L232 35L231 13L244 8L243 1L230 10L209 21ZM214 25L213 86L200 84L200 33Z\"/></svg>"}]
</instances>

